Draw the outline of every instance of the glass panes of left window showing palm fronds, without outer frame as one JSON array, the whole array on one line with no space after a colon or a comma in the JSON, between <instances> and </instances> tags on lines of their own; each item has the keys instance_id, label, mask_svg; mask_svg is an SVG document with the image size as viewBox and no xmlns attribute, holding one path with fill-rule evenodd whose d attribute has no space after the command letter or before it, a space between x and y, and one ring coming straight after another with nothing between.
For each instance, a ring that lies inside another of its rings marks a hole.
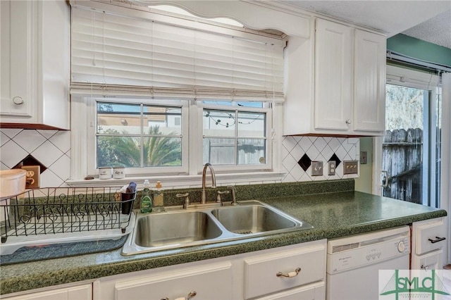
<instances>
[{"instance_id":1,"label":"glass panes of left window showing palm fronds, without outer frame","mask_svg":"<svg viewBox=\"0 0 451 300\"><path fill-rule=\"evenodd\" d=\"M182 165L181 113L181 107L97 102L97 167Z\"/></svg>"}]
</instances>

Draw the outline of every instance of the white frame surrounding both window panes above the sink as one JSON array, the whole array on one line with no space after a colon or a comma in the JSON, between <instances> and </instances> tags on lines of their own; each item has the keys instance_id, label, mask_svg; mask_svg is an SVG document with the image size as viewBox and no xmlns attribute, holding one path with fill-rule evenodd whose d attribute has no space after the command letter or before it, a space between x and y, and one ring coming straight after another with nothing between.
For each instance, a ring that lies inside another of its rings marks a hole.
<instances>
[{"instance_id":1,"label":"white frame surrounding both window panes above the sink","mask_svg":"<svg viewBox=\"0 0 451 300\"><path fill-rule=\"evenodd\" d=\"M147 167L147 168L126 168L126 174L130 177L156 176L156 175L198 175L202 174L203 158L203 111L204 108L225 110L225 111L245 111L266 113L266 163L259 165L214 165L216 173L245 173L245 172L268 172L273 168L273 108L266 102L264 108L223 106L216 104L202 104L201 101L190 100L152 100L139 101L139 99L127 99L123 97L120 101L113 97L101 96L77 96L84 99L87 108L87 170L86 174L96 177L99 169L96 166L97 155L97 102L121 104L140 104L156 106L180 107L182 110L182 165L180 167ZM191 108L190 108L191 107Z\"/></svg>"}]
</instances>

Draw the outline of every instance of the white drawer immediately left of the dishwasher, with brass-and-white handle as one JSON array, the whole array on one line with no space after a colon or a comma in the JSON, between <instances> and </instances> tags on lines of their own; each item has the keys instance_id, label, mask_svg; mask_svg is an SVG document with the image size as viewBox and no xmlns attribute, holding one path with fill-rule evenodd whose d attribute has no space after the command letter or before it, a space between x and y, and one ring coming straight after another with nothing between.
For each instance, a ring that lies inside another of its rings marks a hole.
<instances>
[{"instance_id":1,"label":"white drawer immediately left of the dishwasher, with brass-and-white handle","mask_svg":"<svg viewBox=\"0 0 451 300\"><path fill-rule=\"evenodd\" d=\"M245 259L245 299L323 280L325 268L325 244ZM277 276L279 272L293 277Z\"/></svg>"}]
</instances>

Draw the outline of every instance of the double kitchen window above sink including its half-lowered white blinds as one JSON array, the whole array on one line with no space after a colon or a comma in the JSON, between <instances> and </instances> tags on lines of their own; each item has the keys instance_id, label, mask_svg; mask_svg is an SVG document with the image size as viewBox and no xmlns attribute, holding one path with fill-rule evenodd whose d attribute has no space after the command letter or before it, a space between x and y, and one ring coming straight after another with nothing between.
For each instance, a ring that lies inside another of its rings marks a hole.
<instances>
[{"instance_id":1,"label":"double kitchen window above sink including its half-lowered white blinds","mask_svg":"<svg viewBox=\"0 0 451 300\"><path fill-rule=\"evenodd\" d=\"M195 175L206 162L219 173L272 170L283 38L86 2L72 7L70 92L87 124L75 177L105 165L128 176Z\"/></svg>"}]
</instances>

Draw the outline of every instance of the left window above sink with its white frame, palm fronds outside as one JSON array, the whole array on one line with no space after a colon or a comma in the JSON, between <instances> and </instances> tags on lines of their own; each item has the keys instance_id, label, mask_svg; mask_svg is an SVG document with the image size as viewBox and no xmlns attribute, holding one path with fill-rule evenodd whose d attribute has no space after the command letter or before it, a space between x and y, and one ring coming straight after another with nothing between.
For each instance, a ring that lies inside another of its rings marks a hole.
<instances>
[{"instance_id":1,"label":"left window above sink with its white frame, palm fronds outside","mask_svg":"<svg viewBox=\"0 0 451 300\"><path fill-rule=\"evenodd\" d=\"M111 101L99 96L74 100L86 101L88 108L86 146L92 155L87 156L87 174L95 175L103 166L123 166L128 175L188 172L187 101L147 104L147 99Z\"/></svg>"}]
</instances>

